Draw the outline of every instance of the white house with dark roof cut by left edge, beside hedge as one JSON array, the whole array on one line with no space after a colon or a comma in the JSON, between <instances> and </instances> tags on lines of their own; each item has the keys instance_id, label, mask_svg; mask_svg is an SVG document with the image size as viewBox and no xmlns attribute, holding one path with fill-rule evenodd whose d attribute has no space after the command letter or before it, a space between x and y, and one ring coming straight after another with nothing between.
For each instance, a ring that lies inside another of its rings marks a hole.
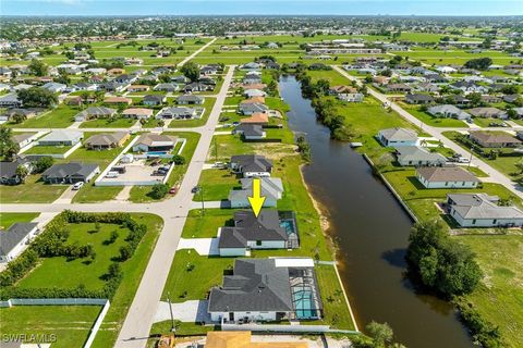
<instances>
[{"instance_id":1,"label":"white house with dark roof cut by left edge, beside hedge","mask_svg":"<svg viewBox=\"0 0 523 348\"><path fill-rule=\"evenodd\" d=\"M38 234L35 222L17 222L5 231L0 231L0 263L13 261Z\"/></svg>"}]
</instances>

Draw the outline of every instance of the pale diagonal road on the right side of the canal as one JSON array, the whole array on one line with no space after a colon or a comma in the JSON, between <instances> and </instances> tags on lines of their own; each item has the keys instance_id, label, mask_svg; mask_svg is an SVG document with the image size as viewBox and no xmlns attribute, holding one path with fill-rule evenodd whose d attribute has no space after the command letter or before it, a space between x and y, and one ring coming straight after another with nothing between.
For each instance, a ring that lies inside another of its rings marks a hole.
<instances>
[{"instance_id":1,"label":"pale diagonal road on the right side of the canal","mask_svg":"<svg viewBox=\"0 0 523 348\"><path fill-rule=\"evenodd\" d=\"M341 75L345 76L346 78L351 79L351 80L356 80L358 84L361 84L361 80L357 79L356 77L350 75L346 71L344 71L341 66L339 65L332 65L332 67L339 72ZM453 151L455 152L459 152L459 153L462 153L463 156L465 157L471 157L471 152L469 150L466 150L465 148L462 148L461 146L459 146L458 144L455 144L454 141L450 140L449 138L447 138L442 133L443 132L447 132L447 130L470 130L470 128L438 128L438 127L433 127L433 126L429 126L425 123L423 123L422 121L419 121L418 119L416 119L415 116L413 116L411 113L409 113L408 111L405 111L404 109L402 109L400 105L398 105L396 102L391 102L386 95L384 94L380 94L372 88L368 88L368 92L370 96L375 97L376 99L378 99L379 101L381 102L388 102L391 107L391 109L396 112L398 112L400 114L400 116L402 116L403 119L405 119L406 121L409 121L410 123L421 127L423 129L423 132L425 133L428 133L431 137L438 139L439 141L441 141L446 147L452 149ZM490 128L483 128L483 129L490 129ZM497 130L499 130L500 128L495 128ZM503 128L503 129L508 129L508 128ZM510 128L509 128L510 129ZM472 163L473 165L477 166L478 169L481 169L483 172L485 172L486 174L489 175L489 178L488 181L490 183L497 183L497 184L501 184L503 185L504 187L507 187L510 191L512 191L514 195L516 195L518 197L522 198L523 199L523 191L522 191L522 187L519 186L516 183L512 182L509 177L507 177L504 174L502 174L501 172L495 170L494 167L491 167L490 165L488 165L487 163L485 163L484 161L482 161L481 159L478 159L477 157L473 156L472 157Z\"/></svg>"}]
</instances>

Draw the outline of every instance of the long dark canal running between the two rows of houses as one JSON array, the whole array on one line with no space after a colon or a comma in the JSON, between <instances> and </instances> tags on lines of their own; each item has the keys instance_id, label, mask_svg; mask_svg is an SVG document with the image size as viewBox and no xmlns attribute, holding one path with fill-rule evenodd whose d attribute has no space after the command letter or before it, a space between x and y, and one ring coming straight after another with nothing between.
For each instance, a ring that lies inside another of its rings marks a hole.
<instances>
[{"instance_id":1,"label":"long dark canal running between the two rows of houses","mask_svg":"<svg viewBox=\"0 0 523 348\"><path fill-rule=\"evenodd\" d=\"M404 277L412 221L400 204L360 153L330 139L293 76L281 77L280 94L291 105L291 129L304 133L311 144L313 163L303 174L329 217L360 330L375 320L388 322L409 348L472 347L452 306L417 294Z\"/></svg>"}]
</instances>

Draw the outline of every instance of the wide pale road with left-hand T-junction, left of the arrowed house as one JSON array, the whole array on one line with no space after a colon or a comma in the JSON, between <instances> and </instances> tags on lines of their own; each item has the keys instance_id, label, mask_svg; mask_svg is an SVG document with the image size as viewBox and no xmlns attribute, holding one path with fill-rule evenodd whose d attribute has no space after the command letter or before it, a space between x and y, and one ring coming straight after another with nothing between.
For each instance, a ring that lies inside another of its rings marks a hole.
<instances>
[{"instance_id":1,"label":"wide pale road with left-hand T-junction, left of the arrowed house","mask_svg":"<svg viewBox=\"0 0 523 348\"><path fill-rule=\"evenodd\" d=\"M191 189L197 185L199 175L204 169L207 153L212 140L216 125L221 112L221 107L227 97L227 91L232 80L235 66L231 66L224 77L216 103L210 112L207 124L200 128L202 137L188 164L179 192L171 199L162 202L129 203L124 201L109 201L98 203L23 203L1 204L1 212L44 212L59 213L65 209L84 212L148 212L163 219L163 228L160 232L156 247L150 256L147 269L142 277L139 287L129 310L127 316L120 331L115 347L135 348L145 347L150 326L157 311L160 297L163 291L174 253L180 241L183 225L188 211L193 206Z\"/></svg>"}]
</instances>

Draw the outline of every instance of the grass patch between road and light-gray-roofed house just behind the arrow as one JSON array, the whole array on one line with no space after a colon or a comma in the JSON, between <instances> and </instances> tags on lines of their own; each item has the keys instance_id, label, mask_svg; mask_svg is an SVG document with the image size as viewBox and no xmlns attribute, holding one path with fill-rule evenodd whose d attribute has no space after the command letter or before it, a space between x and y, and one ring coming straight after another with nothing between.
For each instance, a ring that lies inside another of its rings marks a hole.
<instances>
[{"instance_id":1,"label":"grass patch between road and light-gray-roofed house just behind the arrow","mask_svg":"<svg viewBox=\"0 0 523 348\"><path fill-rule=\"evenodd\" d=\"M229 197L229 191L233 187L241 188L240 179L236 174L231 173L229 169L210 169L202 171L198 185L203 188L204 200L222 200ZM193 200L200 201L202 194L193 196Z\"/></svg>"}]
</instances>

